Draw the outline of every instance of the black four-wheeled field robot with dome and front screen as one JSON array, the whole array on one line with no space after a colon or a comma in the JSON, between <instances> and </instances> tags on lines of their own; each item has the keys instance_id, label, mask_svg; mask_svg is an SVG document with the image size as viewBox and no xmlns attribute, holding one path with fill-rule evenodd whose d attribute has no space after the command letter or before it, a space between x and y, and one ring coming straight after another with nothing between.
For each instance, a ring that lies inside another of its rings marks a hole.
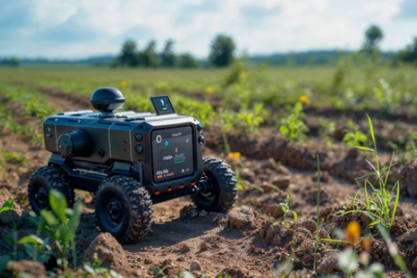
<instances>
[{"instance_id":1,"label":"black four-wheeled field robot with dome and front screen","mask_svg":"<svg viewBox=\"0 0 417 278\"><path fill-rule=\"evenodd\" d=\"M151 97L156 114L122 108L116 88L91 99L98 111L58 113L43 123L49 163L28 181L35 213L50 209L49 190L74 205L75 189L95 196L102 231L121 243L137 243L151 227L152 204L190 195L197 208L226 213L236 203L237 181L219 158L203 158L203 126L177 115L168 97Z\"/></svg>"}]
</instances>

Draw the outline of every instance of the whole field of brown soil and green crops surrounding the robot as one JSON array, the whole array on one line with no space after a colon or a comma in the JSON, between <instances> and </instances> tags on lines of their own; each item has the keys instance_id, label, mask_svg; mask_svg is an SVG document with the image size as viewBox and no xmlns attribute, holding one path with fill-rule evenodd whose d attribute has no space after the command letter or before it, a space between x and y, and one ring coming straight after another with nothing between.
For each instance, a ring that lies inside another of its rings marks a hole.
<instances>
[{"instance_id":1,"label":"whole field of brown soil and green crops surrounding the robot","mask_svg":"<svg viewBox=\"0 0 417 278\"><path fill-rule=\"evenodd\" d=\"M168 261L167 269L188 270L190 261L198 259L208 277L228 273L230 265L232 270L254 274L242 277L277 277L273 272L277 262L291 254L297 269L311 272L316 252L311 233L337 243L318 241L320 267L335 250L343 251L343 230L352 220L359 223L357 233L372 240L371 263L383 263L386 271L402 277L383 248L386 243L376 227L382 223L408 267L415 264L414 245L403 244L401 236L414 235L416 229L416 68L1 67L0 188L8 188L22 211L31 209L26 194L28 177L46 165L50 155L43 148L44 119L60 111L91 109L92 92L106 86L123 92L124 110L154 112L149 97L169 95L177 113L202 122L204 156L223 158L236 171L240 192L234 211L249 208L256 212L253 227L231 230L227 216L195 211L186 198L158 204L154 206L154 232L136 245L124 246L129 261L135 262L132 268L165 268ZM379 155L373 156L371 148ZM396 164L389 168L394 151ZM386 172L391 173L388 176ZM369 178L367 191L363 179L356 183L358 177ZM379 183L377 177L386 179ZM92 220L92 198L77 195L87 204L79 233L90 242L99 234ZM320 202L316 202L316 195ZM291 211L297 212L298 219L291 213L268 212L274 207L283 209L283 204L289 209L290 199ZM372 204L366 206L369 202ZM399 209L395 215L391 209L396 204ZM316 227L318 210L320 223ZM29 222L27 215L22 214L25 223ZM341 232L333 233L335 230ZM33 226L28 231L36 232ZM338 240L342 240L341 245ZM207 243L208 250L197 249L202 243ZM183 244L191 251L179 252ZM358 241L354 247L359 250L360 244ZM83 247L77 248L84 252ZM0 256L10 252L13 249L0 238Z\"/></svg>"}]
</instances>

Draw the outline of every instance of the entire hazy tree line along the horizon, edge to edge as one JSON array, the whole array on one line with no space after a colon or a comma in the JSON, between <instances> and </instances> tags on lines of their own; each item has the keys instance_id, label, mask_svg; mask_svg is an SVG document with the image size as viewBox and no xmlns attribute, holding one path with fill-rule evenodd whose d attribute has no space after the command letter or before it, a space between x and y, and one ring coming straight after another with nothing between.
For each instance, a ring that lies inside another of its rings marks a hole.
<instances>
[{"instance_id":1,"label":"entire hazy tree line along the horizon, edge to edge","mask_svg":"<svg viewBox=\"0 0 417 278\"><path fill-rule=\"evenodd\" d=\"M382 52L379 44L384 33L377 25L371 25L364 33L365 40L358 54L364 59L382 62L386 65L412 64L417 66L417 37L400 51ZM97 67L145 67L145 68L195 68L195 67L227 67L235 57L236 44L229 35L216 35L210 46L208 58L197 60L189 52L177 54L174 51L174 41L167 40L161 51L156 50L156 41L149 41L140 49L134 40L126 40L122 44L120 53L114 56L102 56L85 60L48 60L46 58L22 59L0 58L0 66L18 67L19 65L44 64L74 64L94 65ZM343 51L343 54L354 54L355 51ZM341 51L307 51L293 54L272 54L269 56L252 56L250 63L265 63L272 66L281 65L337 65L341 59ZM378 63L379 63L378 62Z\"/></svg>"}]
</instances>

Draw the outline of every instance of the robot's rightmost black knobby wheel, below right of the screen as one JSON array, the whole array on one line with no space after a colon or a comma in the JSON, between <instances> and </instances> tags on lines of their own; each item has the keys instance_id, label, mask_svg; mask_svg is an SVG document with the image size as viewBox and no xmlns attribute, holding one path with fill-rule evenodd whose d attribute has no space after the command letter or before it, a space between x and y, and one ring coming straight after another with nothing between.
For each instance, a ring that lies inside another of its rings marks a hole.
<instances>
[{"instance_id":1,"label":"robot's rightmost black knobby wheel, below right of the screen","mask_svg":"<svg viewBox=\"0 0 417 278\"><path fill-rule=\"evenodd\" d=\"M220 158L204 158L204 174L211 190L193 195L194 204L205 211L227 213L238 199L238 181L231 167Z\"/></svg>"}]
</instances>

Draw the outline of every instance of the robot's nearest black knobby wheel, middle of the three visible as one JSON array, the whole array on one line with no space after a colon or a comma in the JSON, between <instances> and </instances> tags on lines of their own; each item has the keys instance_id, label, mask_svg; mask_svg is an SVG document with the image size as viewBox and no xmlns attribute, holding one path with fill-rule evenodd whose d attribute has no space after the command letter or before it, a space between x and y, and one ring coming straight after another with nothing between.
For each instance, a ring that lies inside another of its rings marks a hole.
<instances>
[{"instance_id":1,"label":"robot's nearest black knobby wheel, middle of the three visible","mask_svg":"<svg viewBox=\"0 0 417 278\"><path fill-rule=\"evenodd\" d=\"M95 215L102 231L121 243L137 243L152 223L152 200L145 187L131 177L105 179L95 194Z\"/></svg>"}]
</instances>

